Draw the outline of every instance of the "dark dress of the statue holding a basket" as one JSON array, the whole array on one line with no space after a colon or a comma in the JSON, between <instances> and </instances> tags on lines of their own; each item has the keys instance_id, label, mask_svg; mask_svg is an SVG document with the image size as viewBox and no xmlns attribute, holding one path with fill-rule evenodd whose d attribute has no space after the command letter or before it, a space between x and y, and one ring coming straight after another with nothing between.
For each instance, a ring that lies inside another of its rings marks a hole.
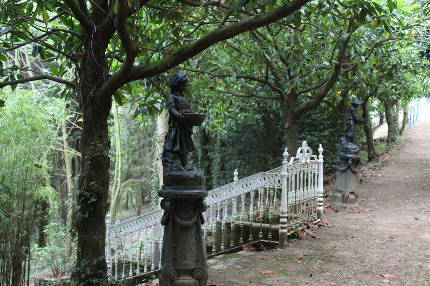
<instances>
[{"instance_id":1,"label":"dark dress of the statue holding a basket","mask_svg":"<svg viewBox=\"0 0 430 286\"><path fill-rule=\"evenodd\" d=\"M179 113L190 111L190 104L185 96L170 93L167 99L167 108L169 110L169 131L164 141L164 150L186 154L195 150L191 135L193 135L193 126L178 123L172 116L172 108Z\"/></svg>"}]
</instances>

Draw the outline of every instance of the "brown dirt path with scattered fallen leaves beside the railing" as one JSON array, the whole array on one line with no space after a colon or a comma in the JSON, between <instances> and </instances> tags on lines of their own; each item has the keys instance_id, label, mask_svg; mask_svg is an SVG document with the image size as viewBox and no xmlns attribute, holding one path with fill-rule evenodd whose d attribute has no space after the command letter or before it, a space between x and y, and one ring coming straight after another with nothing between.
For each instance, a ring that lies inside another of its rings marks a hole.
<instances>
[{"instance_id":1,"label":"brown dirt path with scattered fallen leaves beside the railing","mask_svg":"<svg viewBox=\"0 0 430 286\"><path fill-rule=\"evenodd\" d=\"M360 185L360 197L366 200L356 209L369 212L328 212L324 220L330 227L316 230L321 239L295 240L285 250L211 259L209 281L218 286L430 285L429 189L430 114L426 118L423 111L384 166ZM297 259L300 254L305 256Z\"/></svg>"}]
</instances>

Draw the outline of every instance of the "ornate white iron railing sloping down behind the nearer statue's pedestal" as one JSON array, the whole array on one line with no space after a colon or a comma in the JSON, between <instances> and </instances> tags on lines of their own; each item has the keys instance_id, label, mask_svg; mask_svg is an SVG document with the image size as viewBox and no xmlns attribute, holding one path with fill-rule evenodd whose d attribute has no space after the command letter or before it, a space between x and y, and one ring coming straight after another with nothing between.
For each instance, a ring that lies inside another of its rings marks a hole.
<instances>
[{"instance_id":1,"label":"ornate white iron railing sloping down behind the nearer statue's pedestal","mask_svg":"<svg viewBox=\"0 0 430 286\"><path fill-rule=\"evenodd\" d=\"M321 145L318 151L318 157L313 155L304 141L289 162L285 148L281 167L241 180L235 171L232 183L210 190L202 227L207 256L257 241L276 241L285 247L289 234L321 220ZM162 215L159 209L112 224L107 214L109 277L121 280L161 268Z\"/></svg>"}]
</instances>

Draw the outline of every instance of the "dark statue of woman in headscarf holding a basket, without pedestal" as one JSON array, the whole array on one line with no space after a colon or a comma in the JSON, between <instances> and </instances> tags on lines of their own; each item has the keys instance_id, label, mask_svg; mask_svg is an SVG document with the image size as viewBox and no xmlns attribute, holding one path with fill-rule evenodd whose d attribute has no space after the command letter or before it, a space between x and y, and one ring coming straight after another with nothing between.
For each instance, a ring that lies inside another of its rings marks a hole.
<instances>
[{"instance_id":1,"label":"dark statue of woman in headscarf holding a basket, without pedestal","mask_svg":"<svg viewBox=\"0 0 430 286\"><path fill-rule=\"evenodd\" d=\"M167 98L169 110L169 131L164 141L162 154L163 167L169 167L170 171L192 171L193 166L188 164L188 153L194 151L194 143L191 139L193 126L199 126L205 119L205 114L199 114L190 108L187 98L184 96L188 79L181 72L170 76L170 94ZM165 175L163 174L163 178Z\"/></svg>"}]
</instances>

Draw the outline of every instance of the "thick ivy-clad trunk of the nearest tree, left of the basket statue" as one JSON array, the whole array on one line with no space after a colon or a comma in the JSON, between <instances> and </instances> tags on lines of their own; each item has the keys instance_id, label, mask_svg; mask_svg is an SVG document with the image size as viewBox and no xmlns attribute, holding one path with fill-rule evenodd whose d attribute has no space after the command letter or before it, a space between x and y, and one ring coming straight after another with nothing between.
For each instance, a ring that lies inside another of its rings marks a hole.
<instances>
[{"instance_id":1,"label":"thick ivy-clad trunk of the nearest tree, left of the basket statue","mask_svg":"<svg viewBox=\"0 0 430 286\"><path fill-rule=\"evenodd\" d=\"M107 42L96 29L85 31L83 39L88 56L82 59L78 69L78 92L83 113L82 166L77 198L77 261L72 285L92 286L100 285L107 278L104 245L109 199L108 152L111 149L107 119L112 94L100 93L101 86L109 77L105 60Z\"/></svg>"}]
</instances>

